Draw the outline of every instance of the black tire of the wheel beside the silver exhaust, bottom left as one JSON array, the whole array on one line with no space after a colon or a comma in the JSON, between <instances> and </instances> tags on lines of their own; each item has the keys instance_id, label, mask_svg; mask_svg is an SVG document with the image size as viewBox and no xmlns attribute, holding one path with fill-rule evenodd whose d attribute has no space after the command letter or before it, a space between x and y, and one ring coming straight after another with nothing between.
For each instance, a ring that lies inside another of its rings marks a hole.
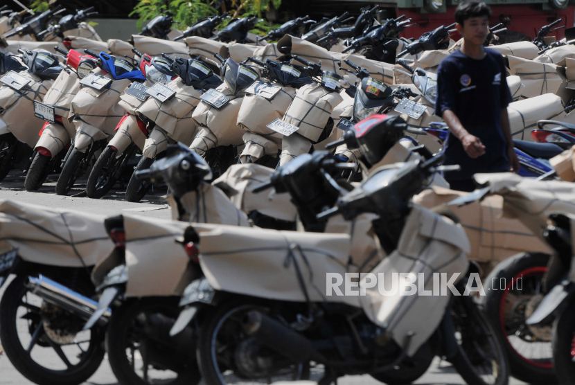
<instances>
[{"instance_id":1,"label":"black tire of the wheel beside the silver exhaust, bottom left","mask_svg":"<svg viewBox=\"0 0 575 385\"><path fill-rule=\"evenodd\" d=\"M27 352L19 339L21 328L18 328L17 323L24 321L24 319L18 315L18 310L24 305L22 298L29 291L26 287L26 278L26 276L17 276L12 280L0 302L0 340L6 356L21 375L38 385L77 385L85 382L98 370L104 359L104 330L98 328L91 330L89 348L85 350L83 353L85 357L82 357L78 364L71 367L67 365L68 367L64 370L54 370L42 366L32 358L32 355ZM36 310L40 309L31 303L26 305L28 310L32 310L34 307ZM31 319L30 322L32 322ZM44 348L51 346L54 350L52 352L54 357L64 355L60 345L47 336L43 324L37 328L33 327L33 329L39 330L42 334L37 340L37 346Z\"/></svg>"}]
</instances>

